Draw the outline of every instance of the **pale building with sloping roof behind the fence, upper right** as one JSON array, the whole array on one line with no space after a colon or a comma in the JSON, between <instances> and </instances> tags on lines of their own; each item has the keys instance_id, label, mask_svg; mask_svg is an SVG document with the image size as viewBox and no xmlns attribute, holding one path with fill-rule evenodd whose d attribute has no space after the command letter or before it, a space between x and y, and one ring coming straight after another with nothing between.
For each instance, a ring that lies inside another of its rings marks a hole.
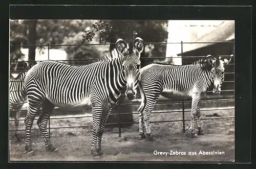
<instances>
[{"instance_id":1,"label":"pale building with sloping roof behind the fence, upper right","mask_svg":"<svg viewBox=\"0 0 256 169\"><path fill-rule=\"evenodd\" d=\"M206 53L230 55L233 51L232 43L186 43L233 41L233 20L169 20L167 31L166 57L179 56L172 59L172 64L191 63L191 60L182 59L181 55L204 56Z\"/></svg>"}]
</instances>

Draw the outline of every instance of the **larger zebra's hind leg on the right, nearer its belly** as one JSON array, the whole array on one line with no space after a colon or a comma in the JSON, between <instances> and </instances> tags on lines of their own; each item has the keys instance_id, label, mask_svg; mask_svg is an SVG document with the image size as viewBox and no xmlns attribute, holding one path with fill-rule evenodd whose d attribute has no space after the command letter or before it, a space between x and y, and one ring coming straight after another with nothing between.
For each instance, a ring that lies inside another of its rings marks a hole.
<instances>
[{"instance_id":1,"label":"larger zebra's hind leg on the right, nearer its belly","mask_svg":"<svg viewBox=\"0 0 256 169\"><path fill-rule=\"evenodd\" d=\"M37 120L37 126L39 127L42 137L44 138L46 144L46 150L50 152L57 151L57 149L52 146L51 139L47 131L47 123L52 114L53 108L54 105L48 99L46 99L42 104L42 110Z\"/></svg>"}]
</instances>

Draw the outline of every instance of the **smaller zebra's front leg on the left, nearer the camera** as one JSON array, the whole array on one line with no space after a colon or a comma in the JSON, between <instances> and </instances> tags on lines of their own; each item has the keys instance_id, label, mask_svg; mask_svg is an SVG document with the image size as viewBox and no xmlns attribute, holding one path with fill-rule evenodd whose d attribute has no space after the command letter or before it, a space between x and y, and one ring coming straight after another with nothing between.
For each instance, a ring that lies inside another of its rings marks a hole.
<instances>
[{"instance_id":1,"label":"smaller zebra's front leg on the left, nearer the camera","mask_svg":"<svg viewBox=\"0 0 256 169\"><path fill-rule=\"evenodd\" d=\"M195 132L195 117L197 115L198 105L201 101L201 94L195 94L192 96L192 104L191 104L191 113L190 113L190 128L191 137L197 137L198 135Z\"/></svg>"}]
</instances>

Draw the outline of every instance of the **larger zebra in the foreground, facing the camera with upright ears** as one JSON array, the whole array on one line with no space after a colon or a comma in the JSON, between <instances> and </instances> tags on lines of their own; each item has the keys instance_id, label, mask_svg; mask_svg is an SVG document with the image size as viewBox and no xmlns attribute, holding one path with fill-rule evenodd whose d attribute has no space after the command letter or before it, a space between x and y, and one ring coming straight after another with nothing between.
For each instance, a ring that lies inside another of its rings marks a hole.
<instances>
[{"instance_id":1,"label":"larger zebra in the foreground, facing the camera with upright ears","mask_svg":"<svg viewBox=\"0 0 256 169\"><path fill-rule=\"evenodd\" d=\"M31 147L31 127L36 113L42 110L37 120L46 145L50 152L53 147L47 122L54 106L75 108L91 105L93 117L93 140L91 154L93 157L103 155L101 137L106 120L118 102L121 90L126 86L127 99L133 100L137 94L140 78L140 53L144 41L137 37L133 48L127 47L123 39L116 41L118 58L103 60L87 65L71 65L57 61L43 61L33 66L27 73L24 88L28 95L28 112L25 117L26 153L33 152ZM103 114L102 110L107 109Z\"/></svg>"}]
</instances>

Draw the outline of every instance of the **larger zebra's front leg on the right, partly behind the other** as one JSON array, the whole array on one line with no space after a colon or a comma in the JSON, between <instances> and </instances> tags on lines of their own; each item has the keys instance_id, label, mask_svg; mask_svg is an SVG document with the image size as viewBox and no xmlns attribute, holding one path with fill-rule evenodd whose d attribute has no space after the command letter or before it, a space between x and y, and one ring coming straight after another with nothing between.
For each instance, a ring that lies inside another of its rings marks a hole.
<instances>
[{"instance_id":1,"label":"larger zebra's front leg on the right, partly behind the other","mask_svg":"<svg viewBox=\"0 0 256 169\"><path fill-rule=\"evenodd\" d=\"M102 135L104 132L106 120L108 120L108 117L109 117L111 111L112 111L112 108L110 108L108 110L108 112L106 112L105 115L102 114L103 116L101 117L101 120L100 120L99 133L98 133L98 139L97 139L97 144L96 144L96 149L97 149L99 156L104 155L103 152L101 151L101 139L102 139Z\"/></svg>"}]
</instances>

